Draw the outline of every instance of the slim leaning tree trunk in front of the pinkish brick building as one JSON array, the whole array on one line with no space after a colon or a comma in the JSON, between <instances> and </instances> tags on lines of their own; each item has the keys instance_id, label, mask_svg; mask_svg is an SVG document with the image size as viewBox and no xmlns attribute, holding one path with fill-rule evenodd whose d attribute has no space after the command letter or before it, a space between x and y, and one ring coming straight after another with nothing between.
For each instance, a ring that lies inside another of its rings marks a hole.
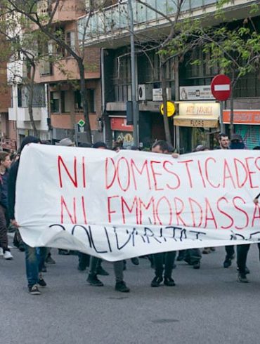
<instances>
[{"instance_id":1,"label":"slim leaning tree trunk in front of the pinkish brick building","mask_svg":"<svg viewBox=\"0 0 260 344\"><path fill-rule=\"evenodd\" d=\"M86 140L92 143L91 127L89 121L89 106L86 92L86 82L85 82L85 67L82 58L77 60L77 65L79 67L79 77L80 77L80 94L82 96L82 107L84 113L85 129L86 129Z\"/></svg>"}]
</instances>

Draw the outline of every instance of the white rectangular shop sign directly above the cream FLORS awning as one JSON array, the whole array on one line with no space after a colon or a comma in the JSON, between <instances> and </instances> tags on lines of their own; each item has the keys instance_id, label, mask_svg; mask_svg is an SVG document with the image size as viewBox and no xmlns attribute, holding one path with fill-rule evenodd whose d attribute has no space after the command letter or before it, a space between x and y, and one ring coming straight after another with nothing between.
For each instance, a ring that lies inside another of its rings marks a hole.
<instances>
[{"instance_id":1,"label":"white rectangular shop sign directly above the cream FLORS awning","mask_svg":"<svg viewBox=\"0 0 260 344\"><path fill-rule=\"evenodd\" d=\"M210 85L181 86L180 100L214 100Z\"/></svg>"}]
</instances>

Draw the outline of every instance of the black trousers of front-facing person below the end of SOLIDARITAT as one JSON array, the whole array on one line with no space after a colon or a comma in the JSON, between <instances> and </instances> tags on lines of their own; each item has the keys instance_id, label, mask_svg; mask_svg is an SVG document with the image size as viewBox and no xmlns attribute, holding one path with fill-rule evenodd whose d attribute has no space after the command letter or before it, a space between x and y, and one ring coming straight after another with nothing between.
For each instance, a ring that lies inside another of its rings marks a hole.
<instances>
[{"instance_id":1,"label":"black trousers of front-facing person below the end of SOLIDARITAT","mask_svg":"<svg viewBox=\"0 0 260 344\"><path fill-rule=\"evenodd\" d=\"M155 276L162 277L162 274L164 272L164 277L171 277L175 256L176 251L155 253L153 255L153 260L155 263Z\"/></svg>"}]
</instances>

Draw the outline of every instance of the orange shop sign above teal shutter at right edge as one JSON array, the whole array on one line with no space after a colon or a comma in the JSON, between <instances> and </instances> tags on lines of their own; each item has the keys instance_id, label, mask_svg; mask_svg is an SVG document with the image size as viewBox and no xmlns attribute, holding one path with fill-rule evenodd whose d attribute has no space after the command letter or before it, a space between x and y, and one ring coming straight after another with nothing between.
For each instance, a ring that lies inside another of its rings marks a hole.
<instances>
[{"instance_id":1,"label":"orange shop sign above teal shutter at right edge","mask_svg":"<svg viewBox=\"0 0 260 344\"><path fill-rule=\"evenodd\" d=\"M230 123L230 110L223 110L223 123ZM260 110L234 110L234 124L260 124Z\"/></svg>"}]
</instances>

